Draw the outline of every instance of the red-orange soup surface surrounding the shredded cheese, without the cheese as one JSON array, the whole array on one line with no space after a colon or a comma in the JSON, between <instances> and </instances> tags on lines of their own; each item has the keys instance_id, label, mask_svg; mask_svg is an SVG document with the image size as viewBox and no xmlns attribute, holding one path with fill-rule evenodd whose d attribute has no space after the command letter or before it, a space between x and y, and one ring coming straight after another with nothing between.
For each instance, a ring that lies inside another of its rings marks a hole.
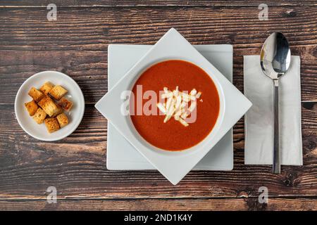
<instances>
[{"instance_id":1,"label":"red-orange soup surface surrounding the shredded cheese, without the cheese","mask_svg":"<svg viewBox=\"0 0 317 225\"><path fill-rule=\"evenodd\" d=\"M220 110L218 91L211 77L197 65L185 60L166 60L151 65L132 88L135 99L140 94L137 86L141 85L142 95L146 91L155 92L158 102L164 87L175 90L177 86L180 92L195 89L201 94L195 104L196 119L188 123L187 127L173 119L163 122L166 115L160 115L157 107L157 115L131 113L133 105L137 109L149 101L144 96L141 104L136 100L130 104L130 117L135 129L151 145L163 150L185 150L204 140L215 126Z\"/></svg>"}]
</instances>

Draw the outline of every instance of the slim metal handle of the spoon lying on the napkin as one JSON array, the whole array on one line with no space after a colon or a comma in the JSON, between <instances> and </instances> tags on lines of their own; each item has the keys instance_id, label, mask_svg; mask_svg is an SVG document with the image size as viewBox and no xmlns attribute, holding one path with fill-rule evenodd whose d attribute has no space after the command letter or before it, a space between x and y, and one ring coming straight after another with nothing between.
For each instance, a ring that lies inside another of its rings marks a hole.
<instances>
[{"instance_id":1,"label":"slim metal handle of the spoon lying on the napkin","mask_svg":"<svg viewBox=\"0 0 317 225\"><path fill-rule=\"evenodd\" d=\"M274 150L273 150L273 173L280 174L280 135L278 122L278 79L274 80Z\"/></svg>"}]
</instances>

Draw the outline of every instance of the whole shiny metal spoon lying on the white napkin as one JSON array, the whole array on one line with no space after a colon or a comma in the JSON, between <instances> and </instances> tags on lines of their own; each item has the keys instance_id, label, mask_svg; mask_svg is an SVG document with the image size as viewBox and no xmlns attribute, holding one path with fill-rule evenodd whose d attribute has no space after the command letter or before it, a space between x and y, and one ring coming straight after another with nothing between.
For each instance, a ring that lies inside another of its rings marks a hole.
<instances>
[{"instance_id":1,"label":"whole shiny metal spoon lying on the white napkin","mask_svg":"<svg viewBox=\"0 0 317 225\"><path fill-rule=\"evenodd\" d=\"M290 68L290 46L282 33L274 32L264 42L261 49L261 68L274 84L274 149L273 173L280 174L280 148L278 123L278 79Z\"/></svg>"}]
</instances>

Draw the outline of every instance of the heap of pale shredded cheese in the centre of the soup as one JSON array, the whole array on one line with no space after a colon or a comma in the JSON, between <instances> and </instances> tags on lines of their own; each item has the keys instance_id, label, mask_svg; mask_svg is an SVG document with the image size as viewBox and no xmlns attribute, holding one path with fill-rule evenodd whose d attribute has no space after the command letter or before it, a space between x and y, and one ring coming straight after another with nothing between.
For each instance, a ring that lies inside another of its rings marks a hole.
<instances>
[{"instance_id":1,"label":"heap of pale shredded cheese in the centre of the soup","mask_svg":"<svg viewBox=\"0 0 317 225\"><path fill-rule=\"evenodd\" d=\"M165 115L163 122L166 123L170 118L174 117L174 119L183 126L189 126L185 120L197 107L197 98L200 98L201 92L192 89L192 91L187 94L185 91L179 91L178 86L176 86L173 91L169 91L168 88L164 86L163 92L164 94L161 95L161 98L167 99L166 102L156 104L157 108ZM191 101L190 105L189 101ZM200 101L202 102L202 100Z\"/></svg>"}]
</instances>

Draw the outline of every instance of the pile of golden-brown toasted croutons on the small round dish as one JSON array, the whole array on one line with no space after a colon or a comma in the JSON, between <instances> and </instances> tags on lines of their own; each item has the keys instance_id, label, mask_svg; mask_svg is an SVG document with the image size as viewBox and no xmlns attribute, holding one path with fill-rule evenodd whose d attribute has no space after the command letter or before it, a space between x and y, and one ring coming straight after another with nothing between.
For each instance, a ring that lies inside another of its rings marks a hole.
<instances>
[{"instance_id":1,"label":"pile of golden-brown toasted croutons on the small round dish","mask_svg":"<svg viewBox=\"0 0 317 225\"><path fill-rule=\"evenodd\" d=\"M37 124L44 122L49 133L52 133L68 124L63 110L69 112L73 102L64 97L67 92L63 86L54 86L51 82L46 82L39 90L32 87L28 94L33 100L25 103L25 108Z\"/></svg>"}]
</instances>

